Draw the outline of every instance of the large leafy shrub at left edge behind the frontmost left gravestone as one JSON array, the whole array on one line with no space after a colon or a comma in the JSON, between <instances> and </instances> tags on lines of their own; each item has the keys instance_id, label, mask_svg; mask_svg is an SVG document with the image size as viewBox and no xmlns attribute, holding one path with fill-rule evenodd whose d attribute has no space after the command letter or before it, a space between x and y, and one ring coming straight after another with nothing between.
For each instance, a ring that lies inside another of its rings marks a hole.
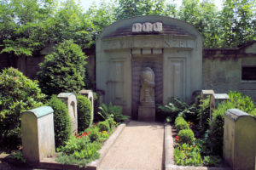
<instances>
[{"instance_id":1,"label":"large leafy shrub at left edge behind the frontmost left gravestone","mask_svg":"<svg viewBox=\"0 0 256 170\"><path fill-rule=\"evenodd\" d=\"M9 147L21 144L20 113L43 105L45 95L38 82L9 68L0 73L0 143Z\"/></svg>"}]
</instances>

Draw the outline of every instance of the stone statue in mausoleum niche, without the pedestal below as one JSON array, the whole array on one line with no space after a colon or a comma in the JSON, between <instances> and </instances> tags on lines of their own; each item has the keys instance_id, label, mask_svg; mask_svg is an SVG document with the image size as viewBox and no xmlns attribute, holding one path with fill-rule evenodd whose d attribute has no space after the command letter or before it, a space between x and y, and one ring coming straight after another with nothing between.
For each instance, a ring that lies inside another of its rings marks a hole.
<instances>
[{"instance_id":1,"label":"stone statue in mausoleum niche, without the pedestal below","mask_svg":"<svg viewBox=\"0 0 256 170\"><path fill-rule=\"evenodd\" d=\"M141 105L154 105L154 71L146 67L141 75Z\"/></svg>"}]
</instances>

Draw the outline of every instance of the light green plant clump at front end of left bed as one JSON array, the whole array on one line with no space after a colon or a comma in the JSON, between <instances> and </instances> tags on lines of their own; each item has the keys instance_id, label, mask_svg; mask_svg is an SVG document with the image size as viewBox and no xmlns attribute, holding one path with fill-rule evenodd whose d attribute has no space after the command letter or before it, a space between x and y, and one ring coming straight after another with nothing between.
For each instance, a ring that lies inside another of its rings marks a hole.
<instances>
[{"instance_id":1,"label":"light green plant clump at front end of left bed","mask_svg":"<svg viewBox=\"0 0 256 170\"><path fill-rule=\"evenodd\" d=\"M72 136L65 146L61 147L61 154L56 161L59 161L61 164L78 164L79 167L86 167L90 161L100 157L97 150L101 147L102 144L100 143L90 142L88 136L83 136L82 138Z\"/></svg>"}]
</instances>

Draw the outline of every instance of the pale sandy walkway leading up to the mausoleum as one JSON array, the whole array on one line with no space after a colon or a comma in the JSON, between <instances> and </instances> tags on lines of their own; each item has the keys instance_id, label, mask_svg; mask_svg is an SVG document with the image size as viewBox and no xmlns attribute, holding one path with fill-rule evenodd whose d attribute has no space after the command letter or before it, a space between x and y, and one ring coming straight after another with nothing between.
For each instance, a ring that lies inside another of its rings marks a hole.
<instances>
[{"instance_id":1,"label":"pale sandy walkway leading up to the mausoleum","mask_svg":"<svg viewBox=\"0 0 256 170\"><path fill-rule=\"evenodd\" d=\"M131 121L103 158L100 170L162 170L164 124Z\"/></svg>"}]
</instances>

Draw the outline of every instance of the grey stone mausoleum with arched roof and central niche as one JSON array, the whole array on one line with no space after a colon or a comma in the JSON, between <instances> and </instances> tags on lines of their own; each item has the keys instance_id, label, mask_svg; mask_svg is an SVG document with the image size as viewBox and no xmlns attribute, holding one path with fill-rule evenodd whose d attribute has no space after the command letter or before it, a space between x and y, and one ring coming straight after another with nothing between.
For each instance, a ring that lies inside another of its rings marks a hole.
<instances>
[{"instance_id":1,"label":"grey stone mausoleum with arched roof and central niche","mask_svg":"<svg viewBox=\"0 0 256 170\"><path fill-rule=\"evenodd\" d=\"M141 89L146 68L154 80L148 78L152 85ZM106 103L122 105L124 113L136 119L142 90L151 106L170 97L189 101L202 88L201 34L182 20L164 16L140 16L108 26L96 41L96 88L105 92Z\"/></svg>"}]
</instances>

